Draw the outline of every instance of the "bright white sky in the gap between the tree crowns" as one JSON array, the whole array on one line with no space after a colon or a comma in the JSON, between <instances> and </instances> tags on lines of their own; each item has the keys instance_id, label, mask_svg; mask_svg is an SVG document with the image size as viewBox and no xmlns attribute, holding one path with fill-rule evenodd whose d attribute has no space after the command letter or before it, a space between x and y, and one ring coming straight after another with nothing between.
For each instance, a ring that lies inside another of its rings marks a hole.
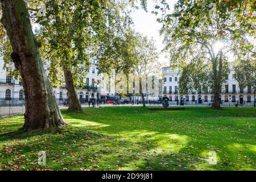
<instances>
[{"instance_id":1,"label":"bright white sky in the gap between the tree crowns","mask_svg":"<svg viewBox=\"0 0 256 182\"><path fill-rule=\"evenodd\" d=\"M176 0L167 0L167 2L172 9ZM148 11L146 12L142 9L134 10L134 12L131 14L131 18L133 18L135 31L138 31L149 38L154 38L156 41L156 47L160 52L164 48L164 44L162 43L163 36L159 35L159 30L162 25L156 21L157 16L151 13L151 11L154 10L154 5L154 0L148 0ZM160 54L159 61L166 66L169 65L169 61L166 59L163 53Z\"/></svg>"}]
</instances>

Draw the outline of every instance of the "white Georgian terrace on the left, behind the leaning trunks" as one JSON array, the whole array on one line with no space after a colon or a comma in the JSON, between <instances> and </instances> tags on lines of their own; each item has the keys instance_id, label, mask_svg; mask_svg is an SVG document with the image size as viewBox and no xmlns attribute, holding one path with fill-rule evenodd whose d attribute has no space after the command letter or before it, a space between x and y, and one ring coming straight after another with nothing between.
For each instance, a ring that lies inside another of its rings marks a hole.
<instances>
[{"instance_id":1,"label":"white Georgian terrace on the left, behind the leaning trunks","mask_svg":"<svg viewBox=\"0 0 256 182\"><path fill-rule=\"evenodd\" d=\"M0 105L24 105L22 80L15 80L12 75L9 75L9 72L3 69L3 64L3 59L0 58ZM104 88L97 88L98 70L94 60L92 60L84 82L84 88L76 89L80 102L83 103L90 98L100 97L101 91L104 92ZM68 98L65 83L59 88L53 87L53 92L57 103L63 105L63 102Z\"/></svg>"}]
</instances>

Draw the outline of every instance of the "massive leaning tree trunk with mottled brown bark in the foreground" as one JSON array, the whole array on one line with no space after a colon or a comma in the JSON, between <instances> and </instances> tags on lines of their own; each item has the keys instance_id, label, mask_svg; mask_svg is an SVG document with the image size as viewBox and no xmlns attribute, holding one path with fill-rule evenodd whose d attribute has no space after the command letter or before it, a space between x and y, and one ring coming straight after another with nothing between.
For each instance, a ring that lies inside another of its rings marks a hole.
<instances>
[{"instance_id":1,"label":"massive leaning tree trunk with mottled brown bark in the foreground","mask_svg":"<svg viewBox=\"0 0 256 182\"><path fill-rule=\"evenodd\" d=\"M23 129L59 128L65 125L51 83L44 71L40 44L32 32L23 0L2 0L1 22L9 36L15 68L23 80L26 112Z\"/></svg>"}]
</instances>

